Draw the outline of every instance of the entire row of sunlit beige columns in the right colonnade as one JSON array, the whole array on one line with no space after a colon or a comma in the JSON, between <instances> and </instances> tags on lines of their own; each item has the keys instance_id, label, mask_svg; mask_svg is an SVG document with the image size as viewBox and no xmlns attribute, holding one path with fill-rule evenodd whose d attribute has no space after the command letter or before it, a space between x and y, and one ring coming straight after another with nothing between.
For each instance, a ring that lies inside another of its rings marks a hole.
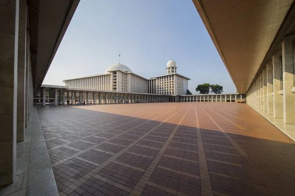
<instances>
[{"instance_id":1,"label":"entire row of sunlit beige columns in the right colonnade","mask_svg":"<svg viewBox=\"0 0 295 196\"><path fill-rule=\"evenodd\" d=\"M247 93L247 102L264 114L295 124L295 35L285 37Z\"/></svg>"}]
</instances>

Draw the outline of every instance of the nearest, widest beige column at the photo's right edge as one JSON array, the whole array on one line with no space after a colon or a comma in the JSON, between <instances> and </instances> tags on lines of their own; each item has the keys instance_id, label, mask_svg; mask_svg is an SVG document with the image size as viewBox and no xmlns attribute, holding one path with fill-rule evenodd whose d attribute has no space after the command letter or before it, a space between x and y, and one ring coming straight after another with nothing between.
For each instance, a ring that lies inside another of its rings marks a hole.
<instances>
[{"instance_id":1,"label":"nearest, widest beige column at the photo's right edge","mask_svg":"<svg viewBox=\"0 0 295 196\"><path fill-rule=\"evenodd\" d=\"M283 120L287 124L295 124L295 94L294 87L294 40L295 36L285 37L282 43L283 59Z\"/></svg>"}]
</instances>

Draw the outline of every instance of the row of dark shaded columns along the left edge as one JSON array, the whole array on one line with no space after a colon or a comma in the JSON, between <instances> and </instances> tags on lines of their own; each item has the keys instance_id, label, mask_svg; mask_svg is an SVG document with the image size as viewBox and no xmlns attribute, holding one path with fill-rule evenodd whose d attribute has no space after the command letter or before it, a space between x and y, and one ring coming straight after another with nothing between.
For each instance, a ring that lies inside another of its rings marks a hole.
<instances>
[{"instance_id":1,"label":"row of dark shaded columns along the left edge","mask_svg":"<svg viewBox=\"0 0 295 196\"><path fill-rule=\"evenodd\" d=\"M0 187L11 184L16 171L16 143L25 140L31 114L33 81L27 2L0 0Z\"/></svg>"}]
</instances>

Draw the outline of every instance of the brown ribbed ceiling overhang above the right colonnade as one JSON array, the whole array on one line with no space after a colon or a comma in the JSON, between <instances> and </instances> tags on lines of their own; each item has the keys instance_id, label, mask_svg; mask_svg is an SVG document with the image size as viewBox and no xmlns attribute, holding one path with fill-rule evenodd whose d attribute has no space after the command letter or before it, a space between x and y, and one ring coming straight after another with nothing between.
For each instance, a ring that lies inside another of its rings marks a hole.
<instances>
[{"instance_id":1,"label":"brown ribbed ceiling overhang above the right colonnade","mask_svg":"<svg viewBox=\"0 0 295 196\"><path fill-rule=\"evenodd\" d=\"M293 0L193 1L238 92L246 93Z\"/></svg>"}]
</instances>

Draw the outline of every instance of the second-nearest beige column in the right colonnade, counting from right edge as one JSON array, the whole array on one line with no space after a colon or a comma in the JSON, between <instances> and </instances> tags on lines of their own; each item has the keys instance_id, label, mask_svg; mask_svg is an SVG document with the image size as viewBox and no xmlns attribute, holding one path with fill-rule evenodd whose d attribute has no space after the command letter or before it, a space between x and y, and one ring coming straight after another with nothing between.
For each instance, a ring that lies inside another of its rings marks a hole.
<instances>
[{"instance_id":1,"label":"second-nearest beige column in the right colonnade, counting from right edge","mask_svg":"<svg viewBox=\"0 0 295 196\"><path fill-rule=\"evenodd\" d=\"M281 90L280 80L280 52L272 55L272 77L273 77L273 117L283 118L283 96L279 94Z\"/></svg>"}]
</instances>

